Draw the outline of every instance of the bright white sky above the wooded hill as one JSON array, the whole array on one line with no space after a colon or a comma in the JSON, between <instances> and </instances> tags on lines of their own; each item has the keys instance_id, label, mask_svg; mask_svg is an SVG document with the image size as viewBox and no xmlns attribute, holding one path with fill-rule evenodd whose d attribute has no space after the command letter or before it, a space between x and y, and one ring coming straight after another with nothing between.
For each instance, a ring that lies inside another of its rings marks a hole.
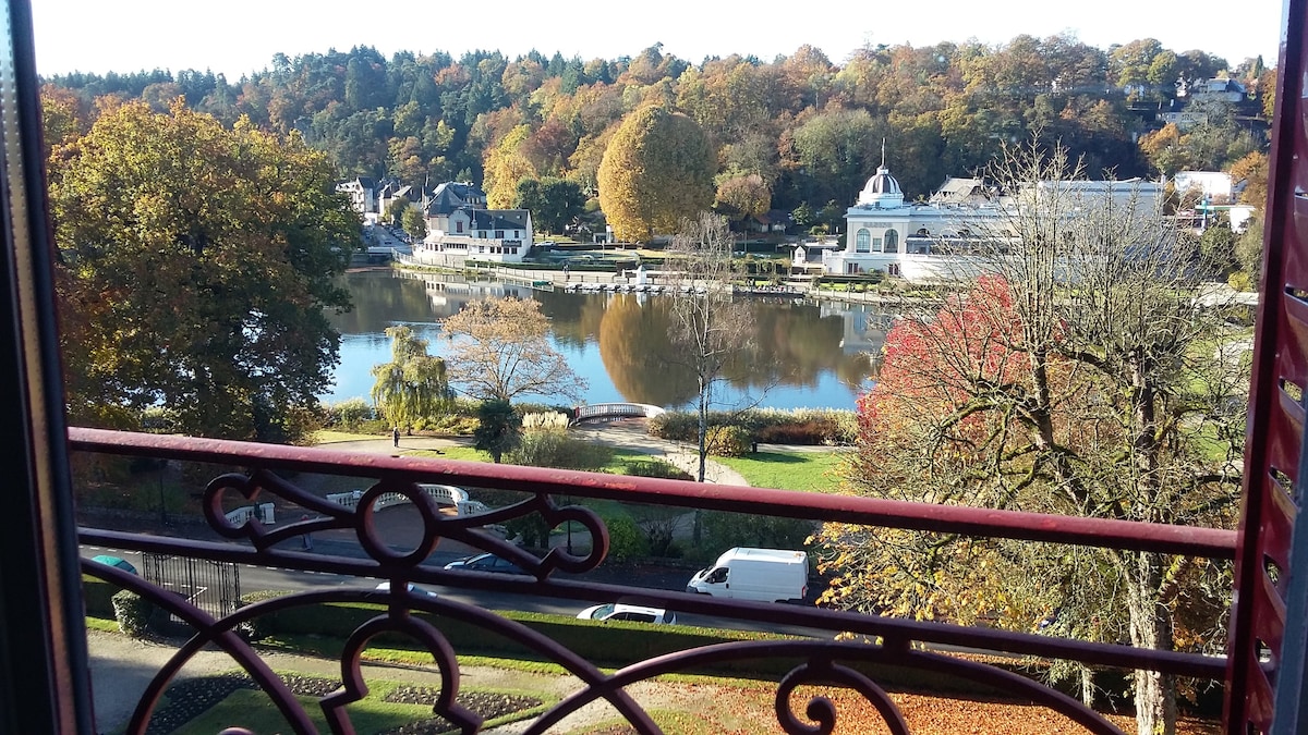
<instances>
[{"instance_id":1,"label":"bright white sky above the wooded hill","mask_svg":"<svg viewBox=\"0 0 1308 735\"><path fill-rule=\"evenodd\" d=\"M31 0L37 71L105 73L212 69L237 81L273 54L373 46L395 51L475 48L510 59L536 48L583 60L634 56L663 43L691 63L753 54L764 61L810 43L840 64L865 43L913 46L976 38L998 44L1062 31L1108 48L1156 38L1172 51L1201 48L1232 65L1262 54L1277 64L1281 1L1155 0Z\"/></svg>"}]
</instances>

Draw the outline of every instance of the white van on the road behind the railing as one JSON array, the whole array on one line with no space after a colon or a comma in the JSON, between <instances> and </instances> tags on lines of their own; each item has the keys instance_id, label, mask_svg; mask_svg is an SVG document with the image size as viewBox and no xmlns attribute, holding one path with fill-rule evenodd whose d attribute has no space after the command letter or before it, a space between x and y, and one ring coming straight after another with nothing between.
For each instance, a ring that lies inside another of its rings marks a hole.
<instances>
[{"instance_id":1,"label":"white van on the road behind the railing","mask_svg":"<svg viewBox=\"0 0 1308 735\"><path fill-rule=\"evenodd\" d=\"M701 569L687 592L738 600L802 600L808 591L808 555L785 549L734 548Z\"/></svg>"}]
</instances>

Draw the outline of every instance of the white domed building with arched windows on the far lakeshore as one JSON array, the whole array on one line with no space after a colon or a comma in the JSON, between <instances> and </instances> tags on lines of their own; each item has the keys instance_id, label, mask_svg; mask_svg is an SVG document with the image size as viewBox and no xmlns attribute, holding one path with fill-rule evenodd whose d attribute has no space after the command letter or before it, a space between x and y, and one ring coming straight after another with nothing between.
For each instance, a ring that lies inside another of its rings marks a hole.
<instances>
[{"instance_id":1,"label":"white domed building with arched windows on the far lakeshore","mask_svg":"<svg viewBox=\"0 0 1308 735\"><path fill-rule=\"evenodd\" d=\"M794 268L807 271L820 256L821 272L829 275L879 271L916 282L974 279L986 268L982 254L991 250L995 231L1007 229L1024 201L1048 196L1056 186L1086 204L1138 197L1159 207L1163 199L1163 184L1137 179L1039 182L1016 195L1001 195L977 179L946 184L925 203L905 203L899 180L882 163L845 212L845 246L802 245Z\"/></svg>"}]
</instances>

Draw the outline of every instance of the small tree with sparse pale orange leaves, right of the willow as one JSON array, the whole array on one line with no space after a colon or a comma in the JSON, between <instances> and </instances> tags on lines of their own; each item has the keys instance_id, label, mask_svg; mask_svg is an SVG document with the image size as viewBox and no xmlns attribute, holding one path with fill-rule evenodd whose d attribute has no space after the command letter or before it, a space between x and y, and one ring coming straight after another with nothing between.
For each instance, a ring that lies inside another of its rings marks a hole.
<instances>
[{"instance_id":1,"label":"small tree with sparse pale orange leaves, right of the willow","mask_svg":"<svg viewBox=\"0 0 1308 735\"><path fill-rule=\"evenodd\" d=\"M531 299L467 303L441 322L450 340L450 382L477 400L521 395L581 400L586 381L549 344L549 319Z\"/></svg>"}]
</instances>

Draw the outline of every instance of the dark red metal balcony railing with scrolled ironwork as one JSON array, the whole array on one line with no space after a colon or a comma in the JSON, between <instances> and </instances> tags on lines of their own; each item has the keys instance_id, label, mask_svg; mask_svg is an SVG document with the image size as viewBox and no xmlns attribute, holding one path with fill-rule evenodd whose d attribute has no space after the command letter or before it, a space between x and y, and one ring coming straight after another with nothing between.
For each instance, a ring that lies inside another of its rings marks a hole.
<instances>
[{"instance_id":1,"label":"dark red metal balcony railing with scrolled ironwork","mask_svg":"<svg viewBox=\"0 0 1308 735\"><path fill-rule=\"evenodd\" d=\"M354 672L356 679L352 680L347 675L344 692L322 700L330 718L344 718L345 715L337 705L348 704L361 691L366 691L361 689L357 672L360 654L368 641L379 633L394 632L408 634L426 645L433 653L443 681L437 713L458 723L467 732L480 727L480 721L475 715L454 704L459 677L458 662L449 641L430 624L412 616L411 611L441 613L502 634L528 647L545 660L562 666L578 679L582 684L581 691L542 714L526 730L527 732L545 732L569 713L599 698L612 704L636 731L642 734L659 732L649 714L625 693L625 687L661 674L759 658L798 659L802 662L780 677L777 684L778 702L789 702L790 692L800 684L825 683L846 687L866 697L882 713L893 732L908 731L903 717L884 689L859 674L855 667L849 666L850 663L887 663L903 668L999 684L1033 702L1046 705L1070 717L1092 732L1118 732L1105 718L1063 693L997 667L934 653L920 643L1071 659L1124 670L1155 670L1205 680L1220 680L1227 668L1227 662L1223 658L1197 654L1141 650L1130 646L1090 643L985 628L914 623L818 607L735 602L679 591L586 581L583 573L594 570L604 560L608 548L607 530L599 517L590 510L581 506L560 506L555 498L561 496L602 498L1210 558L1233 557L1236 534L1232 531L793 493L763 488L704 485L562 470L361 455L324 449L97 429L72 429L69 434L75 453L145 456L245 468L241 473L221 473L212 479L200 501L200 510L209 527L221 536L242 543L195 541L80 528L78 538L85 544L284 569L354 574L390 581L390 592L386 598L388 600L387 611L356 629L345 646L341 662L343 671ZM371 479L373 484L364 490L357 507L347 507L309 493L285 479L285 476L300 472L354 479L368 477ZM430 496L416 487L417 483L518 490L527 493L527 500L481 514L449 517L438 511ZM412 551L396 552L378 534L374 504L387 493L407 496L421 517L421 541ZM225 501L230 502L235 496L239 496L242 502L258 502L275 496L283 502L289 501L313 510L318 518L277 528L263 524L256 517L246 518L241 524L233 524L224 513L224 504ZM551 526L557 526L564 521L581 523L590 531L596 543L585 556L574 556L556 548L543 558L536 558L497 536L480 531L484 526L504 523L530 514L540 514ZM289 551L284 544L303 534L328 530L352 531L366 557ZM528 574L447 572L442 568L424 565L422 561L441 539L454 539L494 552L519 564ZM169 683L187 659L207 645L217 645L232 654L276 702L297 732L313 732L313 723L301 704L259 659L256 651L235 632L241 625L259 616L300 606L323 602L365 602L369 599L377 602L375 592L368 594L365 590L357 589L309 591L251 604L228 615L213 616L174 594L152 589L143 579L127 572L93 562L84 562L82 569L88 574L140 592L175 617L184 620L195 630L190 641L150 683L136 708L128 732L145 731L150 711ZM560 578L556 573L569 574L568 578ZM579 578L578 574L581 574ZM415 594L408 591L408 583L497 590L570 600L616 602L621 599L634 604L658 606L685 613L713 615L729 620L797 625L832 633L849 632L859 637L879 640L879 643L837 641L835 638L717 643L662 655L628 666L613 674L604 674L582 657L530 628L473 606ZM820 705L818 706L820 709ZM815 710L810 710L810 715L812 711ZM833 711L828 714L835 717ZM787 732L807 732L812 727L811 723L800 722L789 710L789 705L778 705L778 723Z\"/></svg>"}]
</instances>

